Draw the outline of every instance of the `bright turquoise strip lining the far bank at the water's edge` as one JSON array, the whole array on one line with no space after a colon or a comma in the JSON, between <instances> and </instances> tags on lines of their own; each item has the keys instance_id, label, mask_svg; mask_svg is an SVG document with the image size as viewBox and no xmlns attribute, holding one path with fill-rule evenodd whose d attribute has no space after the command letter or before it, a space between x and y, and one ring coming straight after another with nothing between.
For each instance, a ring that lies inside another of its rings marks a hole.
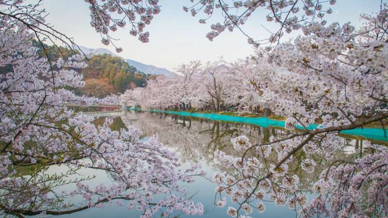
<instances>
[{"instance_id":1,"label":"bright turquoise strip lining the far bank at the water's edge","mask_svg":"<svg viewBox=\"0 0 388 218\"><path fill-rule=\"evenodd\" d=\"M142 109L126 109L126 110L139 110ZM199 112L188 112L188 111L174 111L174 110L154 110L149 109L148 112L155 113L167 113L167 114L176 114L179 116L185 117L195 117L201 119L209 119L214 121L226 121L226 122L234 122L234 123L242 123L242 124L251 124L251 125L259 125L261 127L284 127L283 120L275 120L267 117L242 117L242 116L234 116L234 115L225 115L225 114L217 114L217 113L199 113ZM315 129L318 125L309 125L308 129ZM301 126L298 128L302 129ZM356 128L350 130L342 130L339 134L349 135L349 136L357 136L365 139L381 141L384 143L388 142L388 130L385 130L386 134L384 134L384 130L382 128ZM387 136L387 137L386 137Z\"/></svg>"}]
</instances>

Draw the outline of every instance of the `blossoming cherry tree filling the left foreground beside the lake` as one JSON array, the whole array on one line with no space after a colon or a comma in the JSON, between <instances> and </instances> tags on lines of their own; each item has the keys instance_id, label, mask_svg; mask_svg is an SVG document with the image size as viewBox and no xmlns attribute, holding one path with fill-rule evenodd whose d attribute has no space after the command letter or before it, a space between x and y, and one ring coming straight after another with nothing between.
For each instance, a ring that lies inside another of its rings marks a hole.
<instances>
[{"instance_id":1,"label":"blossoming cherry tree filling the left foreground beside the lake","mask_svg":"<svg viewBox=\"0 0 388 218\"><path fill-rule=\"evenodd\" d=\"M155 5L156 1L149 2ZM85 66L81 62L84 57L74 52L68 59L49 59L43 47L45 39L54 45L62 41L71 49L77 46L45 23L40 3L0 1L1 215L71 214L104 208L112 201L119 206L128 202L127 208L143 211L142 217L158 211L168 216L174 210L202 214L202 204L190 201L178 186L178 182L192 182L194 175L202 174L197 173L198 165L179 170L178 156L164 148L157 135L141 140L142 133L132 126L113 131L109 127L112 119L96 126L92 117L66 107L67 103L116 102L118 97L101 101L67 89L84 85L76 71ZM106 10L104 6L98 15L92 12L92 23L109 16ZM92 25L102 31L107 24ZM39 58L33 39L42 45L46 58ZM66 170L49 173L55 166ZM93 177L77 176L80 169L106 172L112 183L92 187L88 180ZM59 187L70 185L75 188L58 192ZM157 194L163 198L155 199ZM73 199L76 196L81 203Z\"/></svg>"}]
</instances>

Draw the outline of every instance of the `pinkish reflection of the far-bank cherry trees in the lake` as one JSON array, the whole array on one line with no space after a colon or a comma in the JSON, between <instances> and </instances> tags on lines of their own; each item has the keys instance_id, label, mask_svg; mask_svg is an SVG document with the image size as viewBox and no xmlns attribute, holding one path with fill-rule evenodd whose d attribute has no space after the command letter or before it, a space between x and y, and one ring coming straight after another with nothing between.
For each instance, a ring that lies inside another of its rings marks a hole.
<instances>
[{"instance_id":1,"label":"pinkish reflection of the far-bank cherry trees in the lake","mask_svg":"<svg viewBox=\"0 0 388 218\"><path fill-rule=\"evenodd\" d=\"M216 151L235 152L230 139L245 135L252 143L269 142L271 137L281 138L290 132L278 127L226 123L182 117L163 113L125 111L121 116L124 125L134 125L150 136L158 134L163 144L175 148L184 162L213 160ZM368 150L371 141L343 136L343 151L359 155Z\"/></svg>"}]
</instances>

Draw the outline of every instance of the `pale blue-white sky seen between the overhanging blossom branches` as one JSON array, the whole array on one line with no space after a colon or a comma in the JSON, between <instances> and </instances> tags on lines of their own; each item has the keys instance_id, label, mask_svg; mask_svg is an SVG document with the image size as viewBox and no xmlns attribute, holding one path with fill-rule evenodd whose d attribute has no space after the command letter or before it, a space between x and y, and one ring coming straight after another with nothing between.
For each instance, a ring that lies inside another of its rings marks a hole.
<instances>
[{"instance_id":1,"label":"pale blue-white sky seen between the overhanging blossom branches","mask_svg":"<svg viewBox=\"0 0 388 218\"><path fill-rule=\"evenodd\" d=\"M36 1L27 0L29 3ZM161 13L154 16L151 25L145 28L150 32L148 43L129 35L129 29L119 28L113 32L112 36L119 39L116 45L123 48L119 56L173 70L179 64L193 60L215 61L222 56L226 61L234 61L253 53L246 37L237 30L225 31L212 42L205 37L212 23L223 21L221 15L212 17L207 24L200 24L198 20L205 17L203 14L193 17L190 12L182 10L183 5L191 5L190 0L160 0L159 5L162 5ZM112 46L101 44L100 35L90 26L89 8L84 0L44 0L43 7L49 13L46 21L58 31L73 37L78 45L103 47L115 53ZM331 8L333 14L325 15L328 23L351 22L357 27L360 25L359 14L378 12L380 0L337 0ZM265 20L267 14L266 10L257 11L242 26L243 30L254 39L268 37L269 33L261 25L270 30L277 26ZM290 40L299 33L292 32L283 39Z\"/></svg>"}]
</instances>

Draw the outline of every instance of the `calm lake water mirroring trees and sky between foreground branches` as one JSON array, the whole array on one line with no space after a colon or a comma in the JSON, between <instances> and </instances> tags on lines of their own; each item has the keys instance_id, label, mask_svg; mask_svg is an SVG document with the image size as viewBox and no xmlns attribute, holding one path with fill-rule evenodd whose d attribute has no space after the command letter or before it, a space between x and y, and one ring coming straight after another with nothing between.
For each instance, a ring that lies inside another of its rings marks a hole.
<instances>
[{"instance_id":1,"label":"calm lake water mirroring trees and sky between foreground branches","mask_svg":"<svg viewBox=\"0 0 388 218\"><path fill-rule=\"evenodd\" d=\"M269 141L270 137L281 137L286 134L285 130L280 128L263 128L254 125L236 124L236 123L223 123L210 120L194 119L190 117L181 117L178 115L167 115L162 113L149 113L149 112L136 112L136 111L123 111L119 113L105 113L94 114L96 116L112 115L114 122L111 126L113 129L119 130L120 128L126 128L129 125L134 125L143 132L143 136L151 136L158 134L160 141L176 152L178 152L182 167L189 167L193 163L200 163L202 168L207 171L207 176L212 176L215 171L221 171L233 174L230 169L225 169L214 158L214 153L217 151L224 151L226 154L240 156L235 150L233 150L230 143L232 137L239 135L247 136L253 143ZM95 123L102 124L105 117L97 117ZM360 147L364 150L368 150L368 145L371 142L361 141L351 138L343 138L343 152L340 156L349 156L351 158L357 152L360 151ZM360 146L362 144L362 146ZM58 172L64 171L61 167L51 167L49 171ZM104 172L94 170L81 170L81 174L84 176L96 175L97 177L89 182L90 187L95 187L100 183L108 184L109 178ZM308 175L304 181L305 186L311 184L311 180L314 180L318 175ZM188 191L188 196L195 194L193 197L194 202L202 202L206 208L206 212L203 216L186 216L180 215L180 217L204 217L204 218L224 218L226 215L226 209L228 206L233 205L231 203L226 204L224 208L217 208L214 205L215 198L215 184L210 183L205 178L198 177L194 183L184 185ZM63 187L64 189L73 189L73 187ZM308 189L306 189L308 190ZM58 189L57 191L62 191ZM311 196L311 194L310 194ZM80 199L78 199L80 200ZM226 196L227 202L230 202L230 198ZM75 199L77 201L77 199ZM275 203L264 202L266 211L263 214L259 214L254 210L251 214L252 217L268 217L268 218L294 218L295 211L288 208L288 206L275 206ZM113 203L110 206L106 206L105 209L90 208L81 212L77 212L70 215L62 215L61 217L84 217L84 218L121 218L139 217L141 212L136 209L128 210L125 206L117 206ZM236 205L234 205L236 207ZM176 214L179 215L179 214ZM155 215L160 217L160 214ZM172 216L174 217L174 216Z\"/></svg>"}]
</instances>

